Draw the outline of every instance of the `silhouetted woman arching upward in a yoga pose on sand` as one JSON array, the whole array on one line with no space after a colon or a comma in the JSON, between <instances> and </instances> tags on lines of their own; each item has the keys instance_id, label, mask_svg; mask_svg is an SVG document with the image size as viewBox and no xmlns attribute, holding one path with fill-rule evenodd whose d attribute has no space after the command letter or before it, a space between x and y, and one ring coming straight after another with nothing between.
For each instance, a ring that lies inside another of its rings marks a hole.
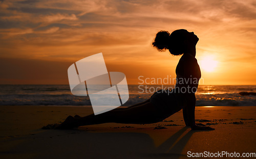
<instances>
[{"instance_id":1,"label":"silhouetted woman arching upward in a yoga pose on sand","mask_svg":"<svg viewBox=\"0 0 256 159\"><path fill-rule=\"evenodd\" d=\"M163 121L183 109L186 126L195 130L212 130L195 123L195 93L201 77L197 63L196 44L199 38L194 32L181 29L172 34L157 33L153 46L159 51L168 49L172 55L182 55L176 67L177 81L173 90L159 90L150 99L127 108L118 108L99 115L69 116L56 128L66 129L101 123L148 124Z\"/></svg>"}]
</instances>

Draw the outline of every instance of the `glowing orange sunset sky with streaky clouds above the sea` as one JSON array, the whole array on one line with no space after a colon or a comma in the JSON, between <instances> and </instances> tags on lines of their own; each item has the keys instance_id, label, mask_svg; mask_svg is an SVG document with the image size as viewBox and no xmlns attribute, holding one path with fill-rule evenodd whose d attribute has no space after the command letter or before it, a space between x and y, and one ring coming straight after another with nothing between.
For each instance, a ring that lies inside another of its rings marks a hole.
<instances>
[{"instance_id":1,"label":"glowing orange sunset sky with streaky clouds above the sea","mask_svg":"<svg viewBox=\"0 0 256 159\"><path fill-rule=\"evenodd\" d=\"M0 1L0 84L68 84L74 62L102 52L128 84L176 77L180 56L151 44L160 30L199 37L205 85L255 85L255 1Z\"/></svg>"}]
</instances>

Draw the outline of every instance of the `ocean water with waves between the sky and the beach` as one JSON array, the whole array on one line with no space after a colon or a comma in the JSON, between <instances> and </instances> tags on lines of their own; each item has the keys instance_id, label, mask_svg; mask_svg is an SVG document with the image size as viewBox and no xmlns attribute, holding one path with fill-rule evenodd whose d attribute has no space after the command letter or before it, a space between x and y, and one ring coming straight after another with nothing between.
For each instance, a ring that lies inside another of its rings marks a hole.
<instances>
[{"instance_id":1,"label":"ocean water with waves between the sky and the beach","mask_svg":"<svg viewBox=\"0 0 256 159\"><path fill-rule=\"evenodd\" d=\"M71 94L69 85L0 85L0 105L91 105L88 96ZM129 85L129 106L148 99L156 90L173 88L162 85ZM256 106L256 86L199 86L197 106Z\"/></svg>"}]
</instances>

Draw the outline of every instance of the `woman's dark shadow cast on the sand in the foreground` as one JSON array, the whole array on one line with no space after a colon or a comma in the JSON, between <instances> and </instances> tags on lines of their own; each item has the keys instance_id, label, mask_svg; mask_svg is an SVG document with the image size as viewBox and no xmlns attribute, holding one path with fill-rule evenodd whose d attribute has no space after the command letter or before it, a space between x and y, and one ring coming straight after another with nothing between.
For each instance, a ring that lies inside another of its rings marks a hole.
<instances>
[{"instance_id":1,"label":"woman's dark shadow cast on the sand in the foreground","mask_svg":"<svg viewBox=\"0 0 256 159\"><path fill-rule=\"evenodd\" d=\"M22 142L5 153L19 158L187 158L182 150L196 132L187 128L179 129L157 147L147 130L145 133L43 130L20 137L18 140ZM11 140L14 138L8 142Z\"/></svg>"}]
</instances>

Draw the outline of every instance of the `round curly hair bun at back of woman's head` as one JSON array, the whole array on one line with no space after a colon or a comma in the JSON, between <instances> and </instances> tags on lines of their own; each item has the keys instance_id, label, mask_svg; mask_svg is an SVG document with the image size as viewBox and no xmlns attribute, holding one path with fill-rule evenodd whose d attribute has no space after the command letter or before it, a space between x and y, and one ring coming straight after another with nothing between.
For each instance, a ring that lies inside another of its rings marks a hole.
<instances>
[{"instance_id":1,"label":"round curly hair bun at back of woman's head","mask_svg":"<svg viewBox=\"0 0 256 159\"><path fill-rule=\"evenodd\" d=\"M158 51L165 51L168 49L169 35L170 33L167 31L158 32L152 45L156 47Z\"/></svg>"}]
</instances>

